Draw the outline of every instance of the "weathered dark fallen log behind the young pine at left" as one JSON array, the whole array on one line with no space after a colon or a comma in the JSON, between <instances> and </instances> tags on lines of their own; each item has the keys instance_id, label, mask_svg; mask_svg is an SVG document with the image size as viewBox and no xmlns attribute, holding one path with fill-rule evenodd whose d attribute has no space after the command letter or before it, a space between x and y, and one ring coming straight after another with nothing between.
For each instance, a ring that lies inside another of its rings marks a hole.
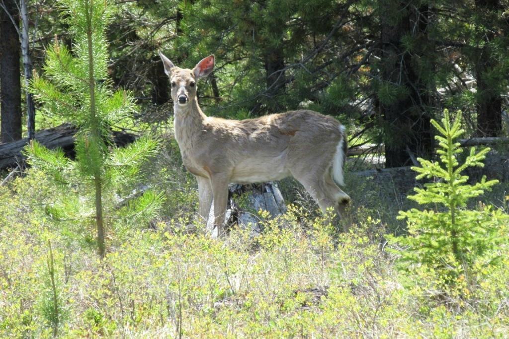
<instances>
[{"instance_id":1,"label":"weathered dark fallen log behind the young pine at left","mask_svg":"<svg viewBox=\"0 0 509 339\"><path fill-rule=\"evenodd\" d=\"M53 149L60 147L68 155L72 155L74 149L74 135L76 127L71 124L63 124L54 128L39 131L35 134L35 139L47 148ZM112 132L113 141L117 146L127 145L137 136L127 132ZM29 143L28 138L0 144L0 169L13 167L24 161L21 154L23 148Z\"/></svg>"}]
</instances>

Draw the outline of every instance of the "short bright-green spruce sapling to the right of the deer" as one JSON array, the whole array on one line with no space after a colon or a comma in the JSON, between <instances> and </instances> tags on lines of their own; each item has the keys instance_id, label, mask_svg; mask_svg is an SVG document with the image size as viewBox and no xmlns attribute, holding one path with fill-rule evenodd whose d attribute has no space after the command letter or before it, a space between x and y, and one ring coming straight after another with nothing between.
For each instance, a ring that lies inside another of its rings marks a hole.
<instances>
[{"instance_id":1,"label":"short bright-green spruce sapling to the right of the deer","mask_svg":"<svg viewBox=\"0 0 509 339\"><path fill-rule=\"evenodd\" d=\"M405 263L401 267L426 266L440 277L445 286L455 286L465 278L474 282L479 265L495 262L498 256L494 250L503 240L500 226L507 215L486 205L480 205L478 210L466 208L470 198L483 194L498 180L487 181L483 176L480 182L467 183L468 176L462 172L472 166L483 167L482 161L489 148L476 152L472 147L465 162L460 165L457 156L462 149L455 139L464 132L461 111L452 124L447 110L444 115L442 124L431 120L441 134L435 136L440 145L437 150L440 162L418 159L421 167L412 167L419 173L417 179L436 180L426 183L425 189L415 188L417 194L408 197L419 204L437 207L435 210L412 208L400 211L398 218L407 219L408 235L388 235L387 238L404 246L404 250L398 251L400 260Z\"/></svg>"}]
</instances>

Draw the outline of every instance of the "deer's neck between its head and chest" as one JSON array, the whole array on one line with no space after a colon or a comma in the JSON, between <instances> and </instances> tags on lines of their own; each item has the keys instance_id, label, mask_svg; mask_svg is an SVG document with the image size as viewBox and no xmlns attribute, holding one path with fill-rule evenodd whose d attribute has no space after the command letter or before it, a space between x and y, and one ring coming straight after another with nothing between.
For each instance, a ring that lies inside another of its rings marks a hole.
<instances>
[{"instance_id":1,"label":"deer's neck between its head and chest","mask_svg":"<svg viewBox=\"0 0 509 339\"><path fill-rule=\"evenodd\" d=\"M192 145L192 139L203 130L203 121L207 116L198 106L196 99L189 102L185 107L175 103L173 111L175 114L175 139L177 139L181 149L188 148Z\"/></svg>"}]
</instances>

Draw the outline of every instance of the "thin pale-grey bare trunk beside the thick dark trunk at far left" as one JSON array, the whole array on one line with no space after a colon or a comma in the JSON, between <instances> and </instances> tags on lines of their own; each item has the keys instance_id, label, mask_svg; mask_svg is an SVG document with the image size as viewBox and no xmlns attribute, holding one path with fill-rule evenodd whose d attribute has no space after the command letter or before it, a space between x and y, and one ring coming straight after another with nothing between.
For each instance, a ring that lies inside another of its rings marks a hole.
<instances>
[{"instance_id":1,"label":"thin pale-grey bare trunk beside the thick dark trunk at far left","mask_svg":"<svg viewBox=\"0 0 509 339\"><path fill-rule=\"evenodd\" d=\"M32 59L29 49L29 16L26 11L26 0L20 0L21 12L21 55L23 56L23 69L25 74L25 96L26 96L26 129L29 139L35 136L35 106L32 93L29 91L30 79L32 79Z\"/></svg>"}]
</instances>

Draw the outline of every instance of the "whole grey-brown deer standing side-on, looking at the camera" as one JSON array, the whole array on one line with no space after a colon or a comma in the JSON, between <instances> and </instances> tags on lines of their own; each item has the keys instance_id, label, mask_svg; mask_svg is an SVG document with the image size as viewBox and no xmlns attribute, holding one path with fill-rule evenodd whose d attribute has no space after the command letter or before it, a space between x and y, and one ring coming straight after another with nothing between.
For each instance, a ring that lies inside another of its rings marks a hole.
<instances>
[{"instance_id":1,"label":"whole grey-brown deer standing side-on, looking at the camera","mask_svg":"<svg viewBox=\"0 0 509 339\"><path fill-rule=\"evenodd\" d=\"M158 51L171 83L174 132L185 168L198 182L199 215L224 232L230 183L257 183L293 176L325 213L338 218L350 197L343 192L346 129L331 116L295 110L253 119L206 116L196 82L214 69L214 55L191 69L175 66Z\"/></svg>"}]
</instances>

